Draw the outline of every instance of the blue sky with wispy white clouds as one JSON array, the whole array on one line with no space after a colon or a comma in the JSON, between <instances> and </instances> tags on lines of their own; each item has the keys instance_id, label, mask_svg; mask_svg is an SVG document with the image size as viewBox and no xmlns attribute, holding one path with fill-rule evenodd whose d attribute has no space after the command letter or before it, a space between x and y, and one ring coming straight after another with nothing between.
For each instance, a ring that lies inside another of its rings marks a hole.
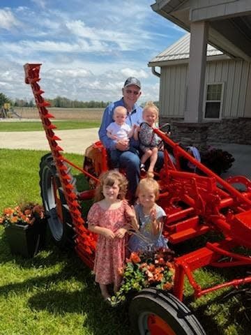
<instances>
[{"instance_id":1,"label":"blue sky with wispy white clouds","mask_svg":"<svg viewBox=\"0 0 251 335\"><path fill-rule=\"evenodd\" d=\"M151 9L155 0L0 0L0 92L33 98L23 65L43 64L44 98L116 101L127 77L139 102L159 100L147 65L185 31Z\"/></svg>"}]
</instances>

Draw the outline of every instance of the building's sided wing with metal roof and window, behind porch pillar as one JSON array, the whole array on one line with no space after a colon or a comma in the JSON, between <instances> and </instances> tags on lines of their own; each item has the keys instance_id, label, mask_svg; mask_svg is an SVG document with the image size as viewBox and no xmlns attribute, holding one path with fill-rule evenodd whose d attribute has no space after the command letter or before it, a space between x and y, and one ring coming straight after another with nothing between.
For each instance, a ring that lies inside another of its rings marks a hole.
<instances>
[{"instance_id":1,"label":"building's sided wing with metal roof and window, behind porch pillar","mask_svg":"<svg viewBox=\"0 0 251 335\"><path fill-rule=\"evenodd\" d=\"M160 68L160 121L183 120L188 90L190 34L151 59ZM203 99L203 121L209 124L208 142L250 143L251 66L231 59L207 45ZM249 128L247 128L247 122ZM237 128L239 131L237 131ZM243 129L248 132L243 132ZM215 137L216 136L216 137Z\"/></svg>"}]
</instances>

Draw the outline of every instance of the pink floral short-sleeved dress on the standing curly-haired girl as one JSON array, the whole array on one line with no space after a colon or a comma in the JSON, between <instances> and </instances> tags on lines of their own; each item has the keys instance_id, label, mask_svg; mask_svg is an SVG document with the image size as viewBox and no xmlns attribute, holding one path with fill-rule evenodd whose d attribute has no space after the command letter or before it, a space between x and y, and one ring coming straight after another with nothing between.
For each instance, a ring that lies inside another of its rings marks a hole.
<instances>
[{"instance_id":1,"label":"pink floral short-sleeved dress on the standing curly-haired girl","mask_svg":"<svg viewBox=\"0 0 251 335\"><path fill-rule=\"evenodd\" d=\"M126 209L128 206L126 200L123 200L119 208L105 210L97 202L89 210L87 216L89 225L98 225L116 232L119 228L125 227L127 223ZM122 239L119 239L119 237L107 239L104 235L98 234L93 268L97 283L120 285L121 275L119 270L123 267L126 258L125 247L126 235Z\"/></svg>"}]
</instances>

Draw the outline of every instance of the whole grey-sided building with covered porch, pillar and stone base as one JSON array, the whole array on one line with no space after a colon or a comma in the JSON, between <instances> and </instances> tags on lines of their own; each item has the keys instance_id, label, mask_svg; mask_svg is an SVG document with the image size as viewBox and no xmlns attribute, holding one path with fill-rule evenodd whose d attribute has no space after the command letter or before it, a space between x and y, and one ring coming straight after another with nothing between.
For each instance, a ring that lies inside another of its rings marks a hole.
<instances>
[{"instance_id":1,"label":"whole grey-sided building with covered porch, pillar and stone base","mask_svg":"<svg viewBox=\"0 0 251 335\"><path fill-rule=\"evenodd\" d=\"M151 7L190 32L149 62L160 77L160 122L172 121L174 140L184 144L251 144L251 1Z\"/></svg>"}]
</instances>

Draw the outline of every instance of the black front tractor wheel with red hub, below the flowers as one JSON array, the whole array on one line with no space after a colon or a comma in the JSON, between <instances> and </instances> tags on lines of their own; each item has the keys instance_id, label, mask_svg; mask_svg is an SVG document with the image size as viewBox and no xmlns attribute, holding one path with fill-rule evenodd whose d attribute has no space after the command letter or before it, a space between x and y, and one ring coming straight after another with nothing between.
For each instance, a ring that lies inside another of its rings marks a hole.
<instances>
[{"instance_id":1,"label":"black front tractor wheel with red hub, below the flowers","mask_svg":"<svg viewBox=\"0 0 251 335\"><path fill-rule=\"evenodd\" d=\"M129 316L135 335L206 335L187 306L174 295L155 288L144 289L132 299ZM149 320L164 325L153 330Z\"/></svg>"}]
</instances>

